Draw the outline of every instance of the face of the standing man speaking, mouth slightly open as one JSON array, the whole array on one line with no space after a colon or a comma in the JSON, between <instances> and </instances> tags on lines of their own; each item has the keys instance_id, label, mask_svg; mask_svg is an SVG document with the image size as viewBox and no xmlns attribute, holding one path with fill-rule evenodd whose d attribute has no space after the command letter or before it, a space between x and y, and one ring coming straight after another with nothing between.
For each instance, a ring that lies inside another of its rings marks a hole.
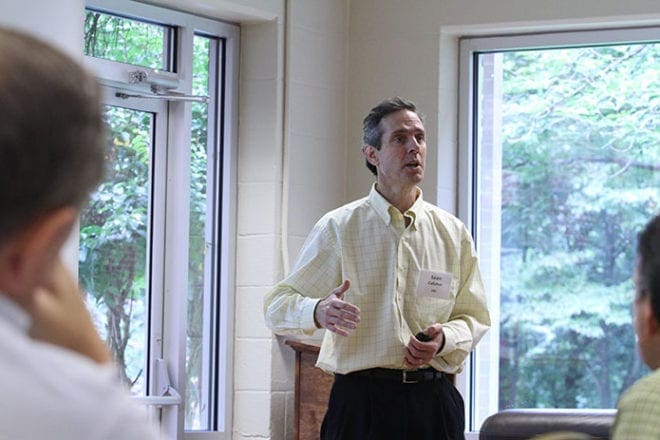
<instances>
[{"instance_id":1,"label":"face of the standing man speaking, mouth slightly open","mask_svg":"<svg viewBox=\"0 0 660 440\"><path fill-rule=\"evenodd\" d=\"M415 186L424 178L426 137L416 113L399 110L380 121L383 130L380 150L367 153L378 169L378 187Z\"/></svg>"}]
</instances>

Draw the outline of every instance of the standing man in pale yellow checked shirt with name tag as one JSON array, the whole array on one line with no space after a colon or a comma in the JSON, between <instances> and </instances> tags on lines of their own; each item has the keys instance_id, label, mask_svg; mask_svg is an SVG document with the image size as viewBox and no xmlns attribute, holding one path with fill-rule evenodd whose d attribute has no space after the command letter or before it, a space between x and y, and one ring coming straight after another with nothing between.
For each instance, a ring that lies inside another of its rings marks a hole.
<instances>
[{"instance_id":1,"label":"standing man in pale yellow checked shirt with name tag","mask_svg":"<svg viewBox=\"0 0 660 440\"><path fill-rule=\"evenodd\" d=\"M415 105L364 119L369 195L316 224L266 297L279 334L325 333L317 366L335 373L322 439L463 438L458 373L490 326L472 239L423 200L426 138Z\"/></svg>"}]
</instances>

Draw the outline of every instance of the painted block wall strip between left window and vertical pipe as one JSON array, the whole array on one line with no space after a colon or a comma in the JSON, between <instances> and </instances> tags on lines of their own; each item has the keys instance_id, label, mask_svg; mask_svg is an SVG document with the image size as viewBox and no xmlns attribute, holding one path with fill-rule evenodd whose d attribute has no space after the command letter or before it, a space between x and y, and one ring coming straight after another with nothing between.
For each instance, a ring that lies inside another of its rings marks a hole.
<instances>
[{"instance_id":1,"label":"painted block wall strip between left window and vertical pipe","mask_svg":"<svg viewBox=\"0 0 660 440\"><path fill-rule=\"evenodd\" d=\"M241 27L234 437L284 438L285 395L263 321L267 289L281 273L284 7ZM276 419L273 421L272 419ZM280 430L280 434L272 434Z\"/></svg>"}]
</instances>

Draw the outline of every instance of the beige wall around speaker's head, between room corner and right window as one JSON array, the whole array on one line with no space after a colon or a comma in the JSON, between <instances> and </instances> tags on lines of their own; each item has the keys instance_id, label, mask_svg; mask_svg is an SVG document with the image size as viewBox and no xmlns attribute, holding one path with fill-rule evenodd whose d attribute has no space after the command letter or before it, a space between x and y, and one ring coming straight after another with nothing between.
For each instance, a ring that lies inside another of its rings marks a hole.
<instances>
[{"instance_id":1,"label":"beige wall around speaker's head, between room corner and right window","mask_svg":"<svg viewBox=\"0 0 660 440\"><path fill-rule=\"evenodd\" d=\"M387 4L384 4L387 3ZM397 2L353 0L349 38L348 193L364 196L373 176L361 153L362 119L379 101L402 96L414 101L424 115L427 166L422 189L436 199L438 114L438 1Z\"/></svg>"}]
</instances>

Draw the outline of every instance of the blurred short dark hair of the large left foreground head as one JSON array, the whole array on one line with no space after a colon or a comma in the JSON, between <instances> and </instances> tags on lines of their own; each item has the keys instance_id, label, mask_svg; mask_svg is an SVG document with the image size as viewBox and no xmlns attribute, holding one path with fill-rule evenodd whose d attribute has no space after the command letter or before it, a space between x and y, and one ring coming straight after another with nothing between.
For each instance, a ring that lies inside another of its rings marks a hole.
<instances>
[{"instance_id":1,"label":"blurred short dark hair of the large left foreground head","mask_svg":"<svg viewBox=\"0 0 660 440\"><path fill-rule=\"evenodd\" d=\"M96 80L63 52L0 28L0 244L40 215L80 207L104 171Z\"/></svg>"}]
</instances>

